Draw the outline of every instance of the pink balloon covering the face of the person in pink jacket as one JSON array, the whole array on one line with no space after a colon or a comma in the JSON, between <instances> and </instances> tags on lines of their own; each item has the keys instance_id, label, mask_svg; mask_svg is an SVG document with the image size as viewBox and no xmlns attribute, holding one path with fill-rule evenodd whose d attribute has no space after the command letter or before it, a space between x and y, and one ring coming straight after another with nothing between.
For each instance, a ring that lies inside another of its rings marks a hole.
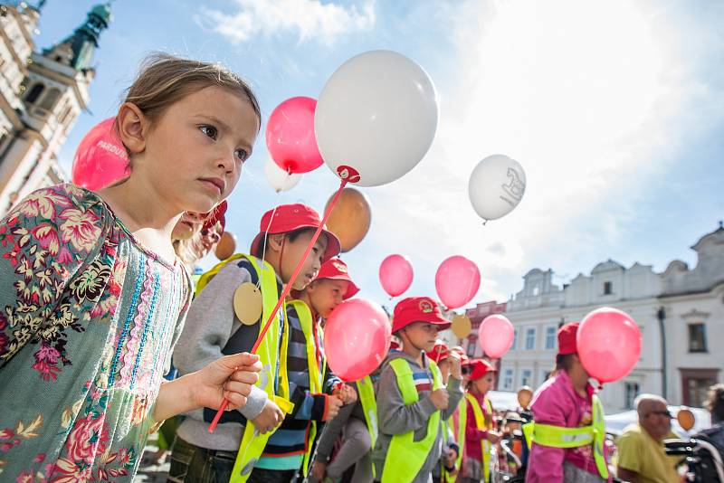
<instances>
[{"instance_id":1,"label":"pink balloon covering the face of the person in pink jacket","mask_svg":"<svg viewBox=\"0 0 724 483\"><path fill-rule=\"evenodd\" d=\"M600 383L629 374L641 355L641 331L628 314L616 308L589 313L576 335L578 357L586 372Z\"/></svg>"}]
</instances>

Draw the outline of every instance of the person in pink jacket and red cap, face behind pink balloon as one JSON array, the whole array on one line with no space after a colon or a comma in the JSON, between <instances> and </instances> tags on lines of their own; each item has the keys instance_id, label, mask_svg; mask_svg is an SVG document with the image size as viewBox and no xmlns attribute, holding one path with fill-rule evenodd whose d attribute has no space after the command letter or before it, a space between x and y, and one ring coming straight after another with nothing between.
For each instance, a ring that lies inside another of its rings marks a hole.
<instances>
[{"instance_id":1,"label":"person in pink jacket and red cap, face behind pink balloon","mask_svg":"<svg viewBox=\"0 0 724 483\"><path fill-rule=\"evenodd\" d=\"M555 375L538 388L530 410L540 424L576 428L592 422L594 387L578 359L578 322L558 330ZM611 481L609 474L608 481ZM527 483L594 483L605 481L595 465L593 445L562 449L542 446L533 440L528 459Z\"/></svg>"}]
</instances>

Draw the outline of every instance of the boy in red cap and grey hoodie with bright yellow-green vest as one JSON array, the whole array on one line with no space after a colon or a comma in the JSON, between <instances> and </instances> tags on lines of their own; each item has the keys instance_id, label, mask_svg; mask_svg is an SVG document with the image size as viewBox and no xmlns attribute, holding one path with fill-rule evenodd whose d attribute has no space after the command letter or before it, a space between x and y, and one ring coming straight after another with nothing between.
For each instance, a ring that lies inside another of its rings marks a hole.
<instances>
[{"instance_id":1,"label":"boy in red cap and grey hoodie with bright yellow-green vest","mask_svg":"<svg viewBox=\"0 0 724 483\"><path fill-rule=\"evenodd\" d=\"M387 356L377 385L376 480L427 482L439 464L441 421L462 398L460 359L452 355L445 387L440 369L425 353L433 349L438 331L450 326L432 298L405 298L395 306L392 331L403 346Z\"/></svg>"}]
</instances>

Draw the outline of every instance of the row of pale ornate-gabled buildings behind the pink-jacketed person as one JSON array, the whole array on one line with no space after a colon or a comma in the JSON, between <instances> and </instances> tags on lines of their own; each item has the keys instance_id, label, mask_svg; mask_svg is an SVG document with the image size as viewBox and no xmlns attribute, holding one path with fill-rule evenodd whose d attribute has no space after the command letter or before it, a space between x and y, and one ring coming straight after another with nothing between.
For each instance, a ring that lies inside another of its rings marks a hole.
<instances>
[{"instance_id":1,"label":"row of pale ornate-gabled buildings behind the pink-jacketed person","mask_svg":"<svg viewBox=\"0 0 724 483\"><path fill-rule=\"evenodd\" d=\"M595 308L614 307L641 329L642 355L631 374L605 384L601 398L606 410L632 408L639 393L700 406L706 388L721 382L724 365L724 353L716 347L724 341L724 229L692 248L699 259L693 270L678 260L661 274L648 265L634 263L626 269L607 260L563 288L553 284L552 270L530 270L523 289L507 304L505 316L515 327L516 340L501 361L499 389L538 387L555 365L558 327Z\"/></svg>"}]
</instances>

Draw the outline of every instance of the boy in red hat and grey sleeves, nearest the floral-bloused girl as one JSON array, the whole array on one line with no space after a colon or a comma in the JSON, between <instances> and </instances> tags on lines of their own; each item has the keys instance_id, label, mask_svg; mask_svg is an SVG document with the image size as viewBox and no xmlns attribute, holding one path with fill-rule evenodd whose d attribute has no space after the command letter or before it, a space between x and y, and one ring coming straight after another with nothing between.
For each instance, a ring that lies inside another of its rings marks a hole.
<instances>
[{"instance_id":1,"label":"boy in red hat and grey sleeves, nearest the floral-bloused girl","mask_svg":"<svg viewBox=\"0 0 724 483\"><path fill-rule=\"evenodd\" d=\"M324 229L303 261L299 276L291 279L319 223L319 214L309 206L278 206L262 216L251 255L233 255L199 279L186 328L174 355L176 367L182 374L194 371L195 367L219 355L252 348L262 324L272 315L271 309L278 300L282 284L291 283L293 289L304 289L317 275L321 264L339 252L337 237ZM244 284L247 289L256 286L261 292L259 301L263 311L256 320L242 323L233 301L237 289ZM252 480L252 470L262 456L271 432L292 409L286 368L287 314L281 309L273 316L270 329L257 351L263 365L260 381L252 387L247 405L243 411L225 412L213 433L208 431L208 424L214 418L214 411L205 409L189 413L177 432L170 478L182 481L184 478L186 481ZM330 406L328 412L333 411ZM291 475L295 472L291 470Z\"/></svg>"}]
</instances>

